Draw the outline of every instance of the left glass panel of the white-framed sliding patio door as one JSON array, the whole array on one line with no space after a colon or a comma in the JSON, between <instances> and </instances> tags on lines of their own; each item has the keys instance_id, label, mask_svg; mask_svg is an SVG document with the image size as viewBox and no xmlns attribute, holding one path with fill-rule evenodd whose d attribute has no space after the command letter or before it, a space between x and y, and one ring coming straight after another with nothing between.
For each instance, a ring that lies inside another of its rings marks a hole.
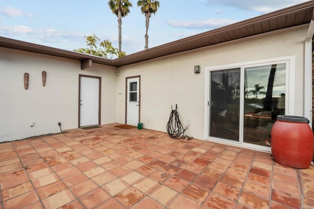
<instances>
[{"instance_id":1,"label":"left glass panel of the white-framed sliding patio door","mask_svg":"<svg viewBox=\"0 0 314 209\"><path fill-rule=\"evenodd\" d=\"M210 72L209 136L239 141L240 68Z\"/></svg>"}]
</instances>

